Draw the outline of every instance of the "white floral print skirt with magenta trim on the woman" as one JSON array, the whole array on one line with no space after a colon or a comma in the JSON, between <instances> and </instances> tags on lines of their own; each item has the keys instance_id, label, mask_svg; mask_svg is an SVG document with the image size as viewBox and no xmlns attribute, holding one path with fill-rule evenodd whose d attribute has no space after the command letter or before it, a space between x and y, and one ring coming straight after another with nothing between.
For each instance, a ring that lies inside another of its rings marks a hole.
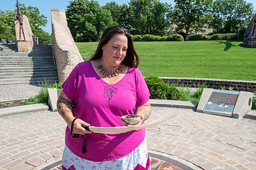
<instances>
[{"instance_id":1,"label":"white floral print skirt with magenta trim on the woman","mask_svg":"<svg viewBox=\"0 0 256 170\"><path fill-rule=\"evenodd\" d=\"M131 153L110 161L94 162L76 156L67 146L62 155L62 170L151 170L146 138Z\"/></svg>"}]
</instances>

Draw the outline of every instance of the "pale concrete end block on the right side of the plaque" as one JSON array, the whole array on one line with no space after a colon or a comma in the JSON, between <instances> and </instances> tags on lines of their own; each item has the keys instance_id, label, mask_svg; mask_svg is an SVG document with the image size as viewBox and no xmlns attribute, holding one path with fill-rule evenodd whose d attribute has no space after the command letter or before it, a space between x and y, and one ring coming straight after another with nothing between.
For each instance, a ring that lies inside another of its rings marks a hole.
<instances>
[{"instance_id":1,"label":"pale concrete end block on the right side of the plaque","mask_svg":"<svg viewBox=\"0 0 256 170\"><path fill-rule=\"evenodd\" d=\"M240 91L238 100L234 106L233 118L242 118L247 112L251 110L252 106L252 92Z\"/></svg>"}]
</instances>

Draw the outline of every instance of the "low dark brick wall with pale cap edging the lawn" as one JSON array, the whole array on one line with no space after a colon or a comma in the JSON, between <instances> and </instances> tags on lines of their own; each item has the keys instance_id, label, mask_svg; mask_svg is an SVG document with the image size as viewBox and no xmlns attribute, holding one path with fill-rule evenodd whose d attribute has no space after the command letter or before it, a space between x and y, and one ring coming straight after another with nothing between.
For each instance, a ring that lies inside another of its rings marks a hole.
<instances>
[{"instance_id":1,"label":"low dark brick wall with pale cap edging the lawn","mask_svg":"<svg viewBox=\"0 0 256 170\"><path fill-rule=\"evenodd\" d=\"M187 87L198 87L198 85L205 84L208 88L228 90L232 87L239 91L256 91L256 81L242 81L242 80L222 80L222 79L198 79L198 78L166 78L160 77L165 83L179 84Z\"/></svg>"}]
</instances>

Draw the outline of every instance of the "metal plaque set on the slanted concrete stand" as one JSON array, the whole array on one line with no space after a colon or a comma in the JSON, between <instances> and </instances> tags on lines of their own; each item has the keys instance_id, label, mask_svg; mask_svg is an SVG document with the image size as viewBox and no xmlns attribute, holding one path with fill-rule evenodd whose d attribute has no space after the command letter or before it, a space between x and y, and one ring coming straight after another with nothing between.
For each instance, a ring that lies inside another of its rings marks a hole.
<instances>
[{"instance_id":1,"label":"metal plaque set on the slanted concrete stand","mask_svg":"<svg viewBox=\"0 0 256 170\"><path fill-rule=\"evenodd\" d=\"M207 101L203 113L232 116L234 105L238 99L238 91L213 90Z\"/></svg>"}]
</instances>

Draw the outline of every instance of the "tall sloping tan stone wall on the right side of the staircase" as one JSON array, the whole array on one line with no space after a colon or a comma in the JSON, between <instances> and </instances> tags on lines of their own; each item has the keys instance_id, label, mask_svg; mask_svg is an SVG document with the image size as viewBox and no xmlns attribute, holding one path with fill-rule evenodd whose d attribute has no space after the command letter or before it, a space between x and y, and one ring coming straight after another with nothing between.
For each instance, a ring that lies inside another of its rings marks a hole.
<instances>
[{"instance_id":1,"label":"tall sloping tan stone wall on the right side of the staircase","mask_svg":"<svg viewBox=\"0 0 256 170\"><path fill-rule=\"evenodd\" d=\"M73 68L83 62L68 28L65 11L51 9L52 44L59 82L64 82Z\"/></svg>"}]
</instances>

